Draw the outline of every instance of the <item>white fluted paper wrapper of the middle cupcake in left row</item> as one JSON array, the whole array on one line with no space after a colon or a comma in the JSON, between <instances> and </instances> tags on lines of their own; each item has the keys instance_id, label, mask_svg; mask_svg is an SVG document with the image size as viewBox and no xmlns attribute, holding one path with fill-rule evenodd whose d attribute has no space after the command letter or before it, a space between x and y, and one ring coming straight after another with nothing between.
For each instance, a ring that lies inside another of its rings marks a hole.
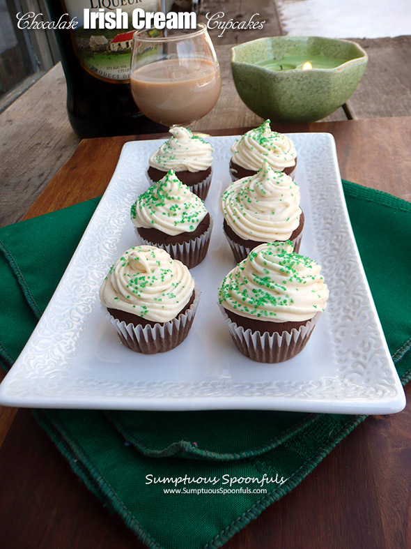
<instances>
[{"instance_id":1,"label":"white fluted paper wrapper of the middle cupcake in left row","mask_svg":"<svg viewBox=\"0 0 411 549\"><path fill-rule=\"evenodd\" d=\"M157 246L157 248L166 250L166 252L171 255L173 260L179 260L189 269L192 269L194 266L201 263L204 257L206 257L208 246L210 245L212 225L212 217L210 216L210 225L208 225L206 232L203 232L203 234L197 236L195 239L178 244L157 244L156 242L150 242L139 234L137 227L135 227L134 230L141 243L148 246Z\"/></svg>"}]
</instances>

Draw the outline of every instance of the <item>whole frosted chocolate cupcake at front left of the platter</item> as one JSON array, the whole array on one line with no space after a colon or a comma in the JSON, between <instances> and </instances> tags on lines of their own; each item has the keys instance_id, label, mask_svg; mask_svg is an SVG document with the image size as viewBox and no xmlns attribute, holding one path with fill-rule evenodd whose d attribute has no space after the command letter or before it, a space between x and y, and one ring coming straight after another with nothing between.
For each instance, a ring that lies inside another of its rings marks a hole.
<instances>
[{"instance_id":1,"label":"whole frosted chocolate cupcake at front left of the platter","mask_svg":"<svg viewBox=\"0 0 411 549\"><path fill-rule=\"evenodd\" d=\"M187 267L154 246L127 250L100 287L100 300L121 342L145 354L180 345L199 299L199 287Z\"/></svg>"}]
</instances>

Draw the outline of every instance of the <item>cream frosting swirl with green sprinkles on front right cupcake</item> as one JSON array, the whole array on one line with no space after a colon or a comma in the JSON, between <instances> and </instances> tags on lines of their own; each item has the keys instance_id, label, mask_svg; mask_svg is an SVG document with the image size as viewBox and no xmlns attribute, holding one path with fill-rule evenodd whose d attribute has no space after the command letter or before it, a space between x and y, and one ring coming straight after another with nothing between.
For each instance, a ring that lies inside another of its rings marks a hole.
<instances>
[{"instance_id":1,"label":"cream frosting swirl with green sprinkles on front right cupcake","mask_svg":"<svg viewBox=\"0 0 411 549\"><path fill-rule=\"evenodd\" d=\"M303 322L327 306L320 271L318 263L293 253L290 241L260 244L224 278L219 303L243 317Z\"/></svg>"}]
</instances>

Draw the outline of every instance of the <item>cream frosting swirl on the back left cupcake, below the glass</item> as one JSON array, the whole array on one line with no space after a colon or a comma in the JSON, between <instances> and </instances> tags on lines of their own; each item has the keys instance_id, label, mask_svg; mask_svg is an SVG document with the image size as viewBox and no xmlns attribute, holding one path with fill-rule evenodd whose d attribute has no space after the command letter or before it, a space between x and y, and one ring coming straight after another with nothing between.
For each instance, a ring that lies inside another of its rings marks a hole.
<instances>
[{"instance_id":1,"label":"cream frosting swirl on the back left cupcake, below the glass","mask_svg":"<svg viewBox=\"0 0 411 549\"><path fill-rule=\"evenodd\" d=\"M150 156L150 166L168 172L201 172L212 165L212 146L187 128L170 128L168 141Z\"/></svg>"}]
</instances>

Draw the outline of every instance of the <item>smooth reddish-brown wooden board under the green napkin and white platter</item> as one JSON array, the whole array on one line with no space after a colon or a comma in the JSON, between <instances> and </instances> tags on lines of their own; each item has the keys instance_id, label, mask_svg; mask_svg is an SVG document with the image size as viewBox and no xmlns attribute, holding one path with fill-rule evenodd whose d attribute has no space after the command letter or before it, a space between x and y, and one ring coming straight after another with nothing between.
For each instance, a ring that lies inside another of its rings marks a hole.
<instances>
[{"instance_id":1,"label":"smooth reddish-brown wooden board under the green napkin and white platter","mask_svg":"<svg viewBox=\"0 0 411 549\"><path fill-rule=\"evenodd\" d=\"M331 132L343 178L411 200L411 117L280 129ZM127 140L130 137L84 140L26 218L100 195ZM411 396L411 384L405 393ZM411 547L410 424L410 405L401 414L367 419L300 486L270 506L225 547ZM2 547L144 547L86 490L29 410L21 409L17 414L11 408L0 411L1 442Z\"/></svg>"}]
</instances>

